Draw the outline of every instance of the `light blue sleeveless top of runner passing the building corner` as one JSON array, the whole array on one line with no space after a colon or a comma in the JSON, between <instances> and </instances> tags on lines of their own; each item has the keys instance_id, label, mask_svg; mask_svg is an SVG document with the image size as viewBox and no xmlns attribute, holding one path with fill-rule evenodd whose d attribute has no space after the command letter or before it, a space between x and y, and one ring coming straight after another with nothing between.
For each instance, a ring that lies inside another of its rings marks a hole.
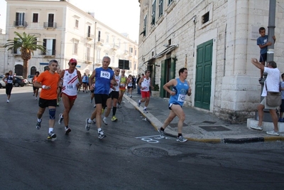
<instances>
[{"instance_id":1,"label":"light blue sleeveless top of runner passing the building corner","mask_svg":"<svg viewBox=\"0 0 284 190\"><path fill-rule=\"evenodd\" d=\"M170 96L169 104L182 106L183 102L185 102L185 96L187 95L190 86L187 84L187 80L185 80L185 83L182 83L179 78L176 78L175 80L178 81L178 84L173 86L175 95Z\"/></svg>"}]
</instances>

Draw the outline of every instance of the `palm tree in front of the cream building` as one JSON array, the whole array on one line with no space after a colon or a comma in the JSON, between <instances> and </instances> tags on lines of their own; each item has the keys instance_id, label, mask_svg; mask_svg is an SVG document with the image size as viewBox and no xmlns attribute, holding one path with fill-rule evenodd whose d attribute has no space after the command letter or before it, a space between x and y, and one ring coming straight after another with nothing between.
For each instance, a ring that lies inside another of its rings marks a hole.
<instances>
[{"instance_id":1,"label":"palm tree in front of the cream building","mask_svg":"<svg viewBox=\"0 0 284 190\"><path fill-rule=\"evenodd\" d=\"M35 36L27 35L25 32L23 32L23 35L16 31L14 33L18 36L18 38L7 40L8 43L4 45L4 48L8 48L8 51L20 48L21 58L23 59L23 78L27 78L28 60L31 59L31 53L37 49L45 52L45 46L38 45L38 43L43 43L43 41L37 41Z\"/></svg>"}]
</instances>

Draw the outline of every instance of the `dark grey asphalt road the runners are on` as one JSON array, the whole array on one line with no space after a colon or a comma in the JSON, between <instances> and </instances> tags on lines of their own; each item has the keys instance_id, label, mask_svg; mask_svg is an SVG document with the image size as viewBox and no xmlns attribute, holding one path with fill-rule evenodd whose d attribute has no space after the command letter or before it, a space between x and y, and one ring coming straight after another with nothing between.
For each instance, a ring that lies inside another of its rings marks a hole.
<instances>
[{"instance_id":1,"label":"dark grey asphalt road the runners are on","mask_svg":"<svg viewBox=\"0 0 284 190\"><path fill-rule=\"evenodd\" d=\"M48 111L35 129L32 88L13 88L6 103L0 89L0 189L283 189L283 142L206 144L160 139L128 102L118 122L102 125L97 138L84 120L92 104L79 93L70 113L69 135L55 123L48 136ZM62 112L58 107L56 116Z\"/></svg>"}]
</instances>

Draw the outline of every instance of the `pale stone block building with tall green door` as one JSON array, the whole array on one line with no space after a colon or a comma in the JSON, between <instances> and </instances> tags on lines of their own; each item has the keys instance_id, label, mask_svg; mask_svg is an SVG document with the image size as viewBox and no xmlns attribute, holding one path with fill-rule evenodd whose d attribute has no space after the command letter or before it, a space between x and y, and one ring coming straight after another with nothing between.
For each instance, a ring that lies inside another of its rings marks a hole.
<instances>
[{"instance_id":1,"label":"pale stone block building with tall green door","mask_svg":"<svg viewBox=\"0 0 284 190\"><path fill-rule=\"evenodd\" d=\"M252 117L261 100L258 28L268 32L269 1L139 0L141 6L138 69L151 70L160 97L163 85L188 70L192 95L185 105L232 123ZM275 7L274 60L283 66L284 2Z\"/></svg>"}]
</instances>

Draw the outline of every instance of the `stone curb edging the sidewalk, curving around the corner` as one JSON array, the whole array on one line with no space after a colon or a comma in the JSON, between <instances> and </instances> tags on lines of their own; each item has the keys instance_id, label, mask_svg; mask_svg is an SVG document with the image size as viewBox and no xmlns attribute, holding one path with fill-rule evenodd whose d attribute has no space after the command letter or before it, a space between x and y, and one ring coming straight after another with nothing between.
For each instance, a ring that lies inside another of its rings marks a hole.
<instances>
[{"instance_id":1,"label":"stone curb edging the sidewalk, curving around the corner","mask_svg":"<svg viewBox=\"0 0 284 190\"><path fill-rule=\"evenodd\" d=\"M143 115L143 117L146 118L148 122L151 123L151 125L155 128L155 130L158 131L158 128L163 126L163 123L160 122L155 116L153 116L151 113L147 113L147 115L143 112L143 107L138 107L138 102L131 99L131 97L128 97L127 95L124 95L124 98L131 102L133 107L138 110L138 112ZM174 134L173 131L169 130L168 128L165 128L165 134L170 137L176 137L177 135ZM249 137L249 138L215 138L215 139L198 139L198 138L191 138L191 137L184 137L185 139L192 141L192 142L205 142L205 143L231 143L231 144L244 144L249 142L275 142L275 141L284 141L283 136L275 136L275 137Z\"/></svg>"}]
</instances>

